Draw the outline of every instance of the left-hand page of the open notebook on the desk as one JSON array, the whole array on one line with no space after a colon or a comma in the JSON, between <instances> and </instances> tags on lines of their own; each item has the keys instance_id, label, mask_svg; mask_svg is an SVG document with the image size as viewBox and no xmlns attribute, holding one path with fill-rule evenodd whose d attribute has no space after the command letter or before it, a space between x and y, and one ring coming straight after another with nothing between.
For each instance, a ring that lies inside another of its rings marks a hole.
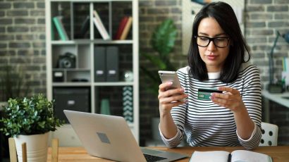
<instances>
[{"instance_id":1,"label":"left-hand page of the open notebook on the desk","mask_svg":"<svg viewBox=\"0 0 289 162\"><path fill-rule=\"evenodd\" d=\"M190 162L227 162L229 154L227 151L194 151Z\"/></svg>"}]
</instances>

